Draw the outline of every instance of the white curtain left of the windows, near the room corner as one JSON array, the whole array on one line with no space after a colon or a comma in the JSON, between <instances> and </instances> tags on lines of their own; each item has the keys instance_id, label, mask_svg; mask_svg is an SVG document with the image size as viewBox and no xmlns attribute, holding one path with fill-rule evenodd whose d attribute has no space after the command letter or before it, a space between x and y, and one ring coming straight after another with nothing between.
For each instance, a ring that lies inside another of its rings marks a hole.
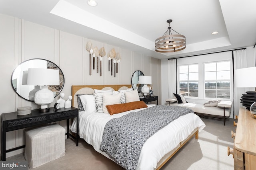
<instances>
[{"instance_id":1,"label":"white curtain left of the windows, near the room corner","mask_svg":"<svg viewBox=\"0 0 256 170\"><path fill-rule=\"evenodd\" d=\"M176 59L168 60L168 98L174 98L176 94Z\"/></svg>"}]
</instances>

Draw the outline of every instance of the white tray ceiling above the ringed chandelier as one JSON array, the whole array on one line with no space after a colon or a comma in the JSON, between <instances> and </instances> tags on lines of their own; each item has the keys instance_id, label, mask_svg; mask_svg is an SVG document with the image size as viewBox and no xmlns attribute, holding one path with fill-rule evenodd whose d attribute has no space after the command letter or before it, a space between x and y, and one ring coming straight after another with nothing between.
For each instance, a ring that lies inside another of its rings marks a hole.
<instances>
[{"instance_id":1,"label":"white tray ceiling above the ringed chandelier","mask_svg":"<svg viewBox=\"0 0 256 170\"><path fill-rule=\"evenodd\" d=\"M256 0L0 0L0 14L60 29L158 59L253 46ZM154 40L172 29L186 49L157 53ZM1 25L3 26L3 25ZM218 31L212 35L213 31Z\"/></svg>"}]
</instances>

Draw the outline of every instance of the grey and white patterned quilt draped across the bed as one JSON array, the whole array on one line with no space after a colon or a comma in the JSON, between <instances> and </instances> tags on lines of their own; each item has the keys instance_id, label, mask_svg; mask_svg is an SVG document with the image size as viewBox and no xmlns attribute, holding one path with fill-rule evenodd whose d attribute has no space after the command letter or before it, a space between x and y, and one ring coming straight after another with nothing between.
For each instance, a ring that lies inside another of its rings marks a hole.
<instances>
[{"instance_id":1,"label":"grey and white patterned quilt draped across the bed","mask_svg":"<svg viewBox=\"0 0 256 170\"><path fill-rule=\"evenodd\" d=\"M100 150L127 170L134 170L146 140L178 117L194 111L180 106L157 105L108 121Z\"/></svg>"}]
</instances>

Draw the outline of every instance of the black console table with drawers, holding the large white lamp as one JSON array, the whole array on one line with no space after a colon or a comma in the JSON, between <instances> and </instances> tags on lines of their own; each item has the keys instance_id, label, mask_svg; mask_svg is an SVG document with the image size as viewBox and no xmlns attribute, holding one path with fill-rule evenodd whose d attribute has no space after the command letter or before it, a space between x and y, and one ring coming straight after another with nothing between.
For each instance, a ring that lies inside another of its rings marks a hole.
<instances>
[{"instance_id":1,"label":"black console table with drawers, holding the large white lamp","mask_svg":"<svg viewBox=\"0 0 256 170\"><path fill-rule=\"evenodd\" d=\"M69 133L69 119L76 117L76 127L77 133L76 137ZM50 107L48 112L39 112L38 109L32 110L31 114L28 115L17 115L17 112L3 113L2 114L2 160L6 160L6 152L10 152L16 149L24 148L25 145L16 147L13 149L6 150L6 132L14 131L18 129L24 129L27 127L36 127L38 125L52 123L55 121L67 120L67 138L72 137L76 140L76 146L78 146L78 109L75 107L71 108L61 108L59 110L54 110Z\"/></svg>"}]
</instances>

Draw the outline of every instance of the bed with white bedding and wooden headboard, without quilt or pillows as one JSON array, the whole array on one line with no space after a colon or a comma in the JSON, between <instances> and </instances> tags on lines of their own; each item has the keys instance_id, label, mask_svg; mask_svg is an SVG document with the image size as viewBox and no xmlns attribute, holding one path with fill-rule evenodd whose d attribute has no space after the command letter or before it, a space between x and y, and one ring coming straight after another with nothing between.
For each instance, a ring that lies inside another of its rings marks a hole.
<instances>
[{"instance_id":1,"label":"bed with white bedding and wooden headboard, without quilt or pillows","mask_svg":"<svg viewBox=\"0 0 256 170\"><path fill-rule=\"evenodd\" d=\"M94 89L122 91L128 90L130 87L130 84L72 86L72 106L78 108L77 95L94 94ZM92 145L97 152L110 158L106 152L100 150L106 123L113 118L128 115L132 111L143 111L144 109L150 109L150 107L155 106L148 105L147 108L124 111L113 115L87 110L79 111L79 136L88 144ZM198 139L198 133L204 127L204 122L194 113L188 113L175 119L146 140L141 149L138 163L136 164L136 170L160 169L193 136ZM74 119L70 130L76 133L76 119Z\"/></svg>"}]
</instances>

